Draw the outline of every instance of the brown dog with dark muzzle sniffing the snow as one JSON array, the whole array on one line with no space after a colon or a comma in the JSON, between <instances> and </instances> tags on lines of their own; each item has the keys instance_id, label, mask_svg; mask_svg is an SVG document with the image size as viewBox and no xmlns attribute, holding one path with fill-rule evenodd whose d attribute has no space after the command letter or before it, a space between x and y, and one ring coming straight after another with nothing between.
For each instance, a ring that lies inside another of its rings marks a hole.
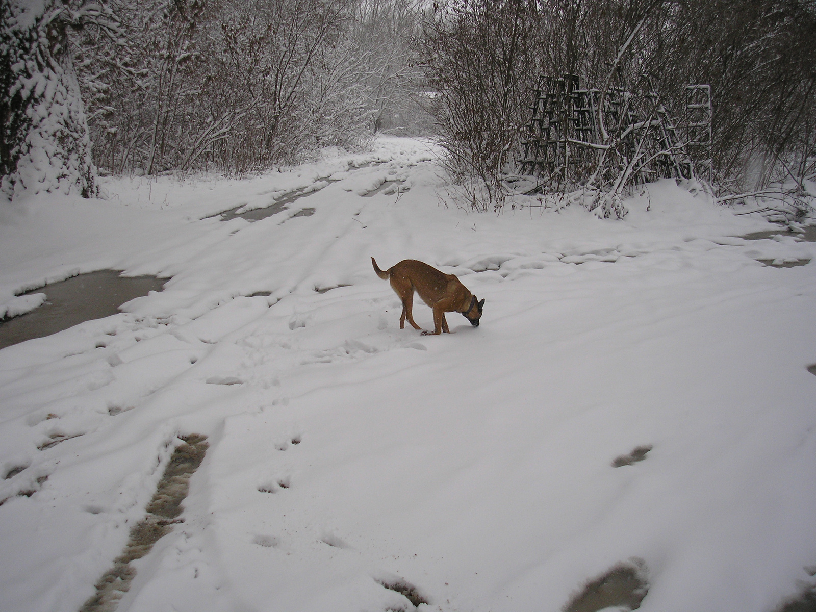
<instances>
[{"instance_id":1,"label":"brown dog with dark muzzle sniffing the snow","mask_svg":"<svg viewBox=\"0 0 816 612\"><path fill-rule=\"evenodd\" d=\"M391 282L391 288L402 300L400 329L406 326L406 317L415 330L422 329L414 322L412 312L414 291L433 309L434 330L423 331L423 335L439 335L443 331L450 334L445 313L462 313L472 326L479 326L481 308L485 305L485 300L478 301L476 295L472 295L468 287L459 282L459 278L453 274L440 272L437 268L416 259L403 259L385 271L379 269L373 257L371 264L374 264L374 271L378 277Z\"/></svg>"}]
</instances>

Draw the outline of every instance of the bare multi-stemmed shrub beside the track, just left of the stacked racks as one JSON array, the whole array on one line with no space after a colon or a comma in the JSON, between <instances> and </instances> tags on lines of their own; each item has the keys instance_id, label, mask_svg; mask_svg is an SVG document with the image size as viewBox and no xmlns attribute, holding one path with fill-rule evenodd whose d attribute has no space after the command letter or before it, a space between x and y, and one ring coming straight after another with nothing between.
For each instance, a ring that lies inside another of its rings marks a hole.
<instances>
[{"instance_id":1,"label":"bare multi-stemmed shrub beside the track, just left of the stacked racks","mask_svg":"<svg viewBox=\"0 0 816 612\"><path fill-rule=\"evenodd\" d=\"M439 142L472 206L500 205L499 183L517 142L536 69L540 13L531 0L450 0L424 20L424 65L440 95Z\"/></svg>"}]
</instances>

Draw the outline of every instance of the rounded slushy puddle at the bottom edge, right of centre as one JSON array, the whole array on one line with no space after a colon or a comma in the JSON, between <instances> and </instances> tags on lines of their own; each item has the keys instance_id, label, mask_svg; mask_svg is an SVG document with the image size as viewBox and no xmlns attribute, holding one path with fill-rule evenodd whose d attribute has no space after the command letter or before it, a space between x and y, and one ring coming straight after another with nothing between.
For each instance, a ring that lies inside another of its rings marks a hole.
<instances>
[{"instance_id":1,"label":"rounded slushy puddle at the bottom edge, right of centre","mask_svg":"<svg viewBox=\"0 0 816 612\"><path fill-rule=\"evenodd\" d=\"M588 582L563 608L564 612L599 612L613 608L615 612L637 610L649 592L645 581L645 563L633 559L632 563L615 565L611 570Z\"/></svg>"}]
</instances>

